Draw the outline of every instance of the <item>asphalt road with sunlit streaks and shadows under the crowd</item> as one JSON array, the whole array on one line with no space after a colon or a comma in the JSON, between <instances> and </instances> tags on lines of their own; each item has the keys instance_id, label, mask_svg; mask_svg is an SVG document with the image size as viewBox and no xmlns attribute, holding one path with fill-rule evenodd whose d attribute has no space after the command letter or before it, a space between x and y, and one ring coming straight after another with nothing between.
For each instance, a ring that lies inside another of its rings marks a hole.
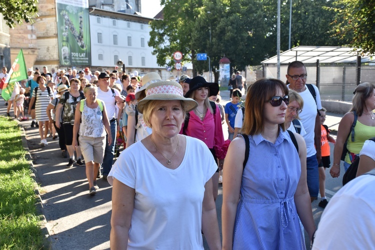
<instances>
[{"instance_id":1,"label":"asphalt road with sunlit streaks and shadows under the crowd","mask_svg":"<svg viewBox=\"0 0 375 250\"><path fill-rule=\"evenodd\" d=\"M229 99L229 91L221 91L224 104ZM12 109L10 114L13 116ZM4 100L0 99L0 115L6 115ZM337 130L341 114L327 112L325 124ZM31 120L19 122L24 129L32 163L36 169L36 180L42 200L42 212L46 219L45 227L49 235L51 249L109 249L109 232L111 216L110 185L101 179L97 180L99 189L96 195L88 195L85 167L74 165L66 168L68 158L61 158L58 139L47 137L48 145L40 146L38 129L30 127ZM227 138L227 127L223 125L224 138ZM333 155L333 145L331 155ZM332 161L332 157L331 157ZM326 170L328 173L329 170ZM341 171L343 167L341 165ZM331 178L326 174L326 196L328 200L341 187L341 176ZM225 177L225 176L224 176ZM219 184L216 199L217 217L221 234L222 186ZM312 202L315 224L318 224L323 209L319 200ZM306 237L307 242L307 237ZM205 249L208 246L204 242ZM309 244L307 243L309 249Z\"/></svg>"}]
</instances>

